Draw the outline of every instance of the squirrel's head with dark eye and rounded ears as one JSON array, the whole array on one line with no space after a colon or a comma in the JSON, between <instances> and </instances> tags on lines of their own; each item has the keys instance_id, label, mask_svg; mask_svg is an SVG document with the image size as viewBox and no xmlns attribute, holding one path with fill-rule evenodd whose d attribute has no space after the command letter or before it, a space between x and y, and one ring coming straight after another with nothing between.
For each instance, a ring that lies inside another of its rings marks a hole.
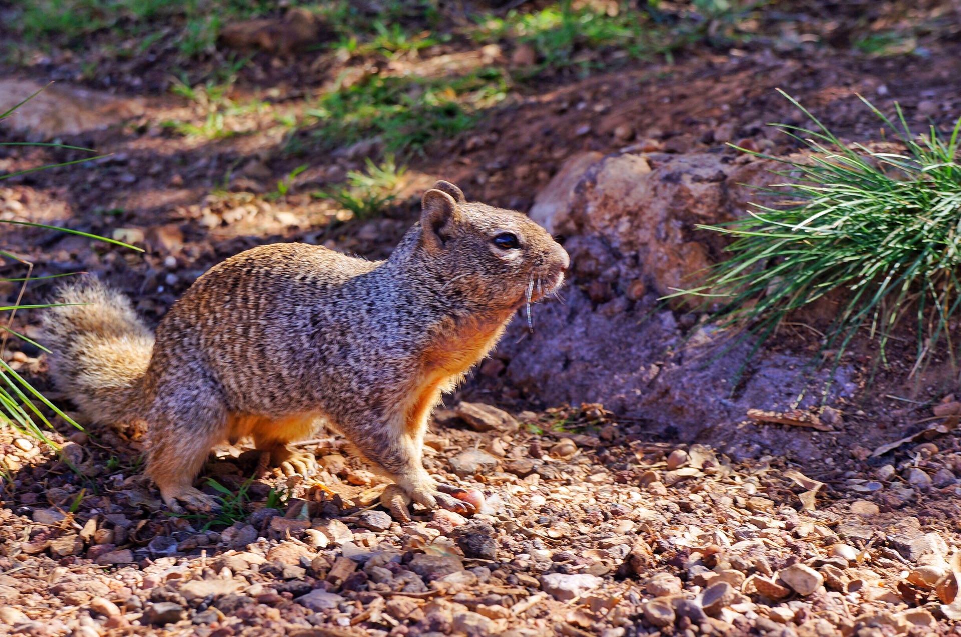
<instances>
[{"instance_id":1,"label":"squirrel's head with dark eye and rounded ears","mask_svg":"<svg viewBox=\"0 0 961 637\"><path fill-rule=\"evenodd\" d=\"M424 193L419 250L442 296L472 310L509 313L554 292L570 258L514 210L468 202L455 184Z\"/></svg>"}]
</instances>

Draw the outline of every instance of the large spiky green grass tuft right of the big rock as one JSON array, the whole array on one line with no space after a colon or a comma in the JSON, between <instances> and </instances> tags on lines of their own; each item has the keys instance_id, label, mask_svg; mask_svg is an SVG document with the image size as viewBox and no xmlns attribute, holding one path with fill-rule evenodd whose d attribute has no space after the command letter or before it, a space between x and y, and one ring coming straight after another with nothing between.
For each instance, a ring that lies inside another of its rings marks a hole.
<instances>
[{"instance_id":1,"label":"large spiky green grass tuft right of the big rock","mask_svg":"<svg viewBox=\"0 0 961 637\"><path fill-rule=\"evenodd\" d=\"M783 93L783 91L781 91ZM783 93L788 97L786 93ZM723 226L730 259L705 284L684 293L723 299L727 326L750 326L756 347L791 312L825 295L843 292L822 352L836 350L835 365L853 335L865 329L885 346L899 319L917 321L914 374L942 343L954 361L949 325L961 306L961 120L944 134L930 127L912 135L898 107L888 117L867 100L886 130L898 135L892 150L846 145L794 99L819 127L780 126L806 143L807 160L777 159L790 183L771 189L784 206L760 206ZM761 156L764 157L764 156Z\"/></svg>"}]
</instances>

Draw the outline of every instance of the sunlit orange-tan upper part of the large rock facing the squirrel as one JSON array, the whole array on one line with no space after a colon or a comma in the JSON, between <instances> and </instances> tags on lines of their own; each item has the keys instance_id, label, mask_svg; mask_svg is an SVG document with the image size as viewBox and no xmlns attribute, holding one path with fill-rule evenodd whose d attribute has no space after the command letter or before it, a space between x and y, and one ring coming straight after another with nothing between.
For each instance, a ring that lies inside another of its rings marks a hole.
<instances>
[{"instance_id":1,"label":"sunlit orange-tan upper part of the large rock facing the squirrel","mask_svg":"<svg viewBox=\"0 0 961 637\"><path fill-rule=\"evenodd\" d=\"M564 169L575 166L581 164L569 162ZM658 293L670 294L692 287L724 246L719 234L696 226L742 216L758 194L746 184L779 181L770 167L712 153L610 155L584 169L568 206L546 214L535 203L531 216L553 233L602 239L615 255L636 260L637 274ZM558 180L567 183L572 176L562 169ZM572 257L579 271L578 256Z\"/></svg>"}]
</instances>

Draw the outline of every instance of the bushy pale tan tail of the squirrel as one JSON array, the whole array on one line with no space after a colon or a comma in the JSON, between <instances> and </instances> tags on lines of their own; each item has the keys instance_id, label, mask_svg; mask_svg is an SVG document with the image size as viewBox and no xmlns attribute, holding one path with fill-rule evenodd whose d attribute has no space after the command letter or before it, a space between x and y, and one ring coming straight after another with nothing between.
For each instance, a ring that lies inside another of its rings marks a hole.
<instances>
[{"instance_id":1,"label":"bushy pale tan tail of the squirrel","mask_svg":"<svg viewBox=\"0 0 961 637\"><path fill-rule=\"evenodd\" d=\"M130 300L95 279L63 285L43 317L50 373L93 422L120 425L142 413L154 334Z\"/></svg>"}]
</instances>

